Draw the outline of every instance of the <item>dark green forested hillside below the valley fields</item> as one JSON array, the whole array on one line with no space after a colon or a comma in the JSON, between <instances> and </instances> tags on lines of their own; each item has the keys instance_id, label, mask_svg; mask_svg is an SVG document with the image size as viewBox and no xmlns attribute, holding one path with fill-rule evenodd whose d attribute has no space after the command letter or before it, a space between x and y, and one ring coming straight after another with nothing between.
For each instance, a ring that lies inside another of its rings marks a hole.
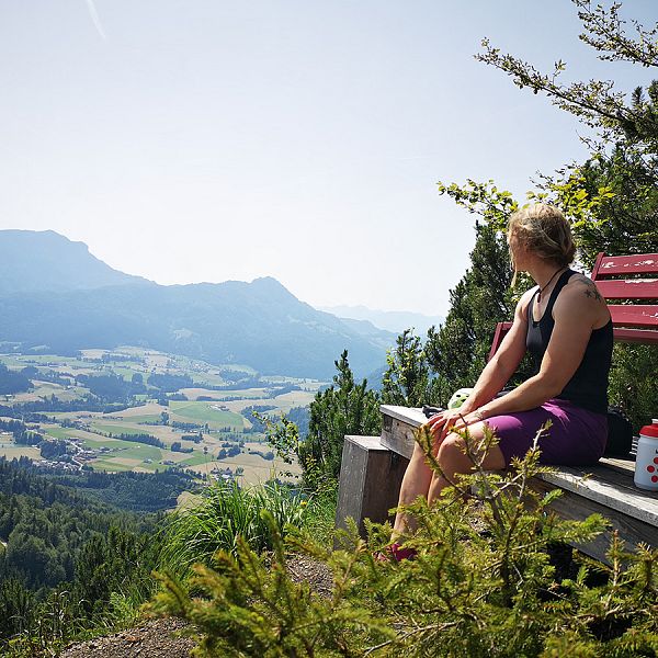
<instances>
[{"instance_id":1,"label":"dark green forested hillside below the valley fields","mask_svg":"<svg viewBox=\"0 0 658 658\"><path fill-rule=\"evenodd\" d=\"M45 476L0 458L0 651L16 633L111 614L113 592L146 595L161 517L131 510L164 510L194 488L182 473Z\"/></svg>"}]
</instances>

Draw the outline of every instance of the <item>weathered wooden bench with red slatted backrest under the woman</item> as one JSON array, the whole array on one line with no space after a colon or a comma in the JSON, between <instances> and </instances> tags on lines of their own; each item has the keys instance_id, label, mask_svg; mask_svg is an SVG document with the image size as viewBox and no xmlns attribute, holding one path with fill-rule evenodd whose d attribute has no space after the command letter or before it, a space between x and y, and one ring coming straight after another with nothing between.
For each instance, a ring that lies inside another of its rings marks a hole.
<instances>
[{"instance_id":1,"label":"weathered wooden bench with red slatted backrest under the woman","mask_svg":"<svg viewBox=\"0 0 658 658\"><path fill-rule=\"evenodd\" d=\"M658 254L600 253L591 277L610 302L615 340L658 345ZM498 324L489 358L510 327L511 322ZM339 526L352 517L363 531L364 519L384 522L387 510L397 504L401 478L413 452L413 430L426 418L420 409L384 405L381 410L381 436L345 436L337 509ZM534 478L533 486L541 491L563 490L553 508L564 518L582 520L599 512L610 519L612 527L629 545L644 542L658 546L658 494L634 486L634 467L633 455L627 460L603 458L593 467L559 467L553 474ZM609 545L606 533L578 548L604 561Z\"/></svg>"}]
</instances>

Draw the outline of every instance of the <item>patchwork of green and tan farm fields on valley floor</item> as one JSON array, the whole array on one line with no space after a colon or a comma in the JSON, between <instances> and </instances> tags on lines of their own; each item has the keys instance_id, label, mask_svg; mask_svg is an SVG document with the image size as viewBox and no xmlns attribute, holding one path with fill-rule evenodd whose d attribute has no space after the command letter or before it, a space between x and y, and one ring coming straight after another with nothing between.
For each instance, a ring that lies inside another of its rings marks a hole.
<instances>
[{"instance_id":1,"label":"patchwork of green and tan farm fields on valley floor","mask_svg":"<svg viewBox=\"0 0 658 658\"><path fill-rule=\"evenodd\" d=\"M35 407L38 421L32 421L27 427L45 440L66 442L71 468L86 464L95 470L152 473L181 467L200 476L212 475L216 469L215 477L228 473L229 477L238 477L245 484L269 479L274 473L299 469L254 454L254 451L266 454L271 449L264 442L264 435L253 431L250 420L241 411L252 406L265 407L268 413L276 415L293 407L304 407L324 385L322 382L292 377L258 378L256 371L248 366L213 366L198 360L132 347L112 352L84 350L77 359L52 354L0 354L0 363L14 371L29 367L33 384L31 390L3 396L5 399L0 404L41 405ZM44 373L48 381L39 379L35 376L37 373ZM163 377L154 378L150 384L151 375ZM99 410L98 404L95 408L87 406L87 400L94 399L88 382L97 377L104 377L102 381L110 383L125 382L121 384L124 387L136 382L141 390L137 389L127 407L122 408L118 400L107 398L103 405L112 408ZM178 390L159 390L155 387L159 382L193 384ZM240 388L236 384L239 382L245 382L247 387ZM257 385L250 388L249 384ZM206 386L225 388L216 390ZM213 399L197 399L204 396ZM122 434L148 434L161 445L118 439ZM178 450L172 451L172 446ZM220 451L223 455L229 453L231 456L218 460ZM0 436L0 456L9 460L27 456L44 464L48 462L42 458L38 446L13 443L11 433Z\"/></svg>"}]
</instances>

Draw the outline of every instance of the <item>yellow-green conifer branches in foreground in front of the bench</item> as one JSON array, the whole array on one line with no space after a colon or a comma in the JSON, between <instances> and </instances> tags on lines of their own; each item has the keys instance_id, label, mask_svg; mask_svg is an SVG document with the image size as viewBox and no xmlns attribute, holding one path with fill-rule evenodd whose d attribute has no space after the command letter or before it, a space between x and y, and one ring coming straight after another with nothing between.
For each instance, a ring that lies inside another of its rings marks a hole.
<instances>
[{"instance_id":1,"label":"yellow-green conifer branches in foreground in front of the bench","mask_svg":"<svg viewBox=\"0 0 658 658\"><path fill-rule=\"evenodd\" d=\"M367 541L343 533L336 552L288 535L288 548L330 566L333 594L322 599L291 580L280 529L264 512L271 564L239 541L237 556L219 552L216 568L196 566L185 587L160 576L163 590L150 610L192 622L200 656L655 656L657 553L631 554L614 538L610 567L583 561L571 579L558 580L551 546L587 542L605 521L561 521L549 511L559 494L530 487L545 470L536 449L510 473L492 475L478 457L486 445L465 439L474 475L436 504L408 508L420 526L408 540L417 559L374 557L387 525L371 525ZM429 453L431 439L418 440ZM475 491L467 501L466 487Z\"/></svg>"}]
</instances>

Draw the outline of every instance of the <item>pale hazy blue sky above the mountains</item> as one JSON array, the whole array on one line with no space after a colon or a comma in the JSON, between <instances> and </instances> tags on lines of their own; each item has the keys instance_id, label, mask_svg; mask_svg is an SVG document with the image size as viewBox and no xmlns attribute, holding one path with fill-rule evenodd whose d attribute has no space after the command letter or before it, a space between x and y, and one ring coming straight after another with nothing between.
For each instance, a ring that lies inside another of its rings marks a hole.
<instances>
[{"instance_id":1,"label":"pale hazy blue sky above the mountains","mask_svg":"<svg viewBox=\"0 0 658 658\"><path fill-rule=\"evenodd\" d=\"M473 54L488 36L566 79L648 80L579 32L568 0L0 0L0 228L159 283L272 275L313 305L443 315L473 219L435 182L519 193L586 154Z\"/></svg>"}]
</instances>

